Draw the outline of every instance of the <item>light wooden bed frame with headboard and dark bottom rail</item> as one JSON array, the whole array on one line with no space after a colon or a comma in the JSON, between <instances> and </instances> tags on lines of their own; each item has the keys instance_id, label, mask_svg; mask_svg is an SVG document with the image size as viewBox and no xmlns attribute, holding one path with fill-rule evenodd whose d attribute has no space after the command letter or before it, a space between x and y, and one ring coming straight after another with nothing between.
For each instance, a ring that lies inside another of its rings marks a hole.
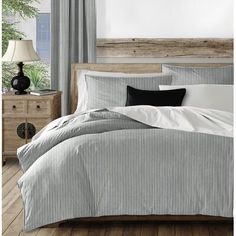
<instances>
[{"instance_id":1,"label":"light wooden bed frame with headboard and dark bottom rail","mask_svg":"<svg viewBox=\"0 0 236 236\"><path fill-rule=\"evenodd\" d=\"M230 64L175 64L181 66L201 66L219 67ZM71 113L76 110L78 91L77 91L77 72L79 70L96 70L109 72L126 73L155 73L161 72L161 64L73 64L71 72ZM58 227L60 224L68 222L109 222L109 221L158 221L158 222L233 222L231 217L205 216L205 215L146 215L146 216L102 216L71 219L44 227Z\"/></svg>"}]
</instances>

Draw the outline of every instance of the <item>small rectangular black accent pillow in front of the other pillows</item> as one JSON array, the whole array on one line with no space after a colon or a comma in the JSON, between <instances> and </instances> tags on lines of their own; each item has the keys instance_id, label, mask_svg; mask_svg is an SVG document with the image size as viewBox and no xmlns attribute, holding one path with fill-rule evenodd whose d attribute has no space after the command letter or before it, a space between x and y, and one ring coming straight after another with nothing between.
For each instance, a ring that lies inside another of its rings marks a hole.
<instances>
[{"instance_id":1,"label":"small rectangular black accent pillow in front of the other pillows","mask_svg":"<svg viewBox=\"0 0 236 236\"><path fill-rule=\"evenodd\" d=\"M150 91L127 86L126 106L181 106L186 89Z\"/></svg>"}]
</instances>

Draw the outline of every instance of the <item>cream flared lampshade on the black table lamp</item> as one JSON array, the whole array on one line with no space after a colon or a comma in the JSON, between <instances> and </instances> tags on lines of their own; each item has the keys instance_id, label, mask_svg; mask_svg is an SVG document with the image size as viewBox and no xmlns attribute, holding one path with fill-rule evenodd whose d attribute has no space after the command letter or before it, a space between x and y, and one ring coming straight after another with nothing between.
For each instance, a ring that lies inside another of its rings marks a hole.
<instances>
[{"instance_id":1,"label":"cream flared lampshade on the black table lamp","mask_svg":"<svg viewBox=\"0 0 236 236\"><path fill-rule=\"evenodd\" d=\"M2 61L24 62L39 61L40 58L33 48L32 40L9 40L8 48Z\"/></svg>"}]
</instances>

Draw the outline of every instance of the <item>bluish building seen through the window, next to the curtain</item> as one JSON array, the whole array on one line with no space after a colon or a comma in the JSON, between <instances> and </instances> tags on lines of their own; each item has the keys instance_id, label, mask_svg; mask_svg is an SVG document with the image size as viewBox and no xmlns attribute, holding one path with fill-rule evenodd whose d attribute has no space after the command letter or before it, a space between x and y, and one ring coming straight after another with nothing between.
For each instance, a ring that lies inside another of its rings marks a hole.
<instances>
[{"instance_id":1,"label":"bluish building seen through the window, next to the curtain","mask_svg":"<svg viewBox=\"0 0 236 236\"><path fill-rule=\"evenodd\" d=\"M41 60L50 62L50 14L39 13L36 20L36 50Z\"/></svg>"}]
</instances>

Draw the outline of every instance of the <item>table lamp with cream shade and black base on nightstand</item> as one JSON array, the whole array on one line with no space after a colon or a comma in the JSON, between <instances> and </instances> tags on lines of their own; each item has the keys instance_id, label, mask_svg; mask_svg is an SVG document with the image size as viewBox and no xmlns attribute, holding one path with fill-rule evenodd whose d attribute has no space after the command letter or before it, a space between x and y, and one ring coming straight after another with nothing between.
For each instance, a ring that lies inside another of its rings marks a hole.
<instances>
[{"instance_id":1,"label":"table lamp with cream shade and black base on nightstand","mask_svg":"<svg viewBox=\"0 0 236 236\"><path fill-rule=\"evenodd\" d=\"M11 80L11 86L16 95L27 94L25 89L30 86L29 77L24 75L23 62L39 61L40 58L33 48L32 40L9 40L8 48L2 61L18 62L19 72Z\"/></svg>"}]
</instances>

